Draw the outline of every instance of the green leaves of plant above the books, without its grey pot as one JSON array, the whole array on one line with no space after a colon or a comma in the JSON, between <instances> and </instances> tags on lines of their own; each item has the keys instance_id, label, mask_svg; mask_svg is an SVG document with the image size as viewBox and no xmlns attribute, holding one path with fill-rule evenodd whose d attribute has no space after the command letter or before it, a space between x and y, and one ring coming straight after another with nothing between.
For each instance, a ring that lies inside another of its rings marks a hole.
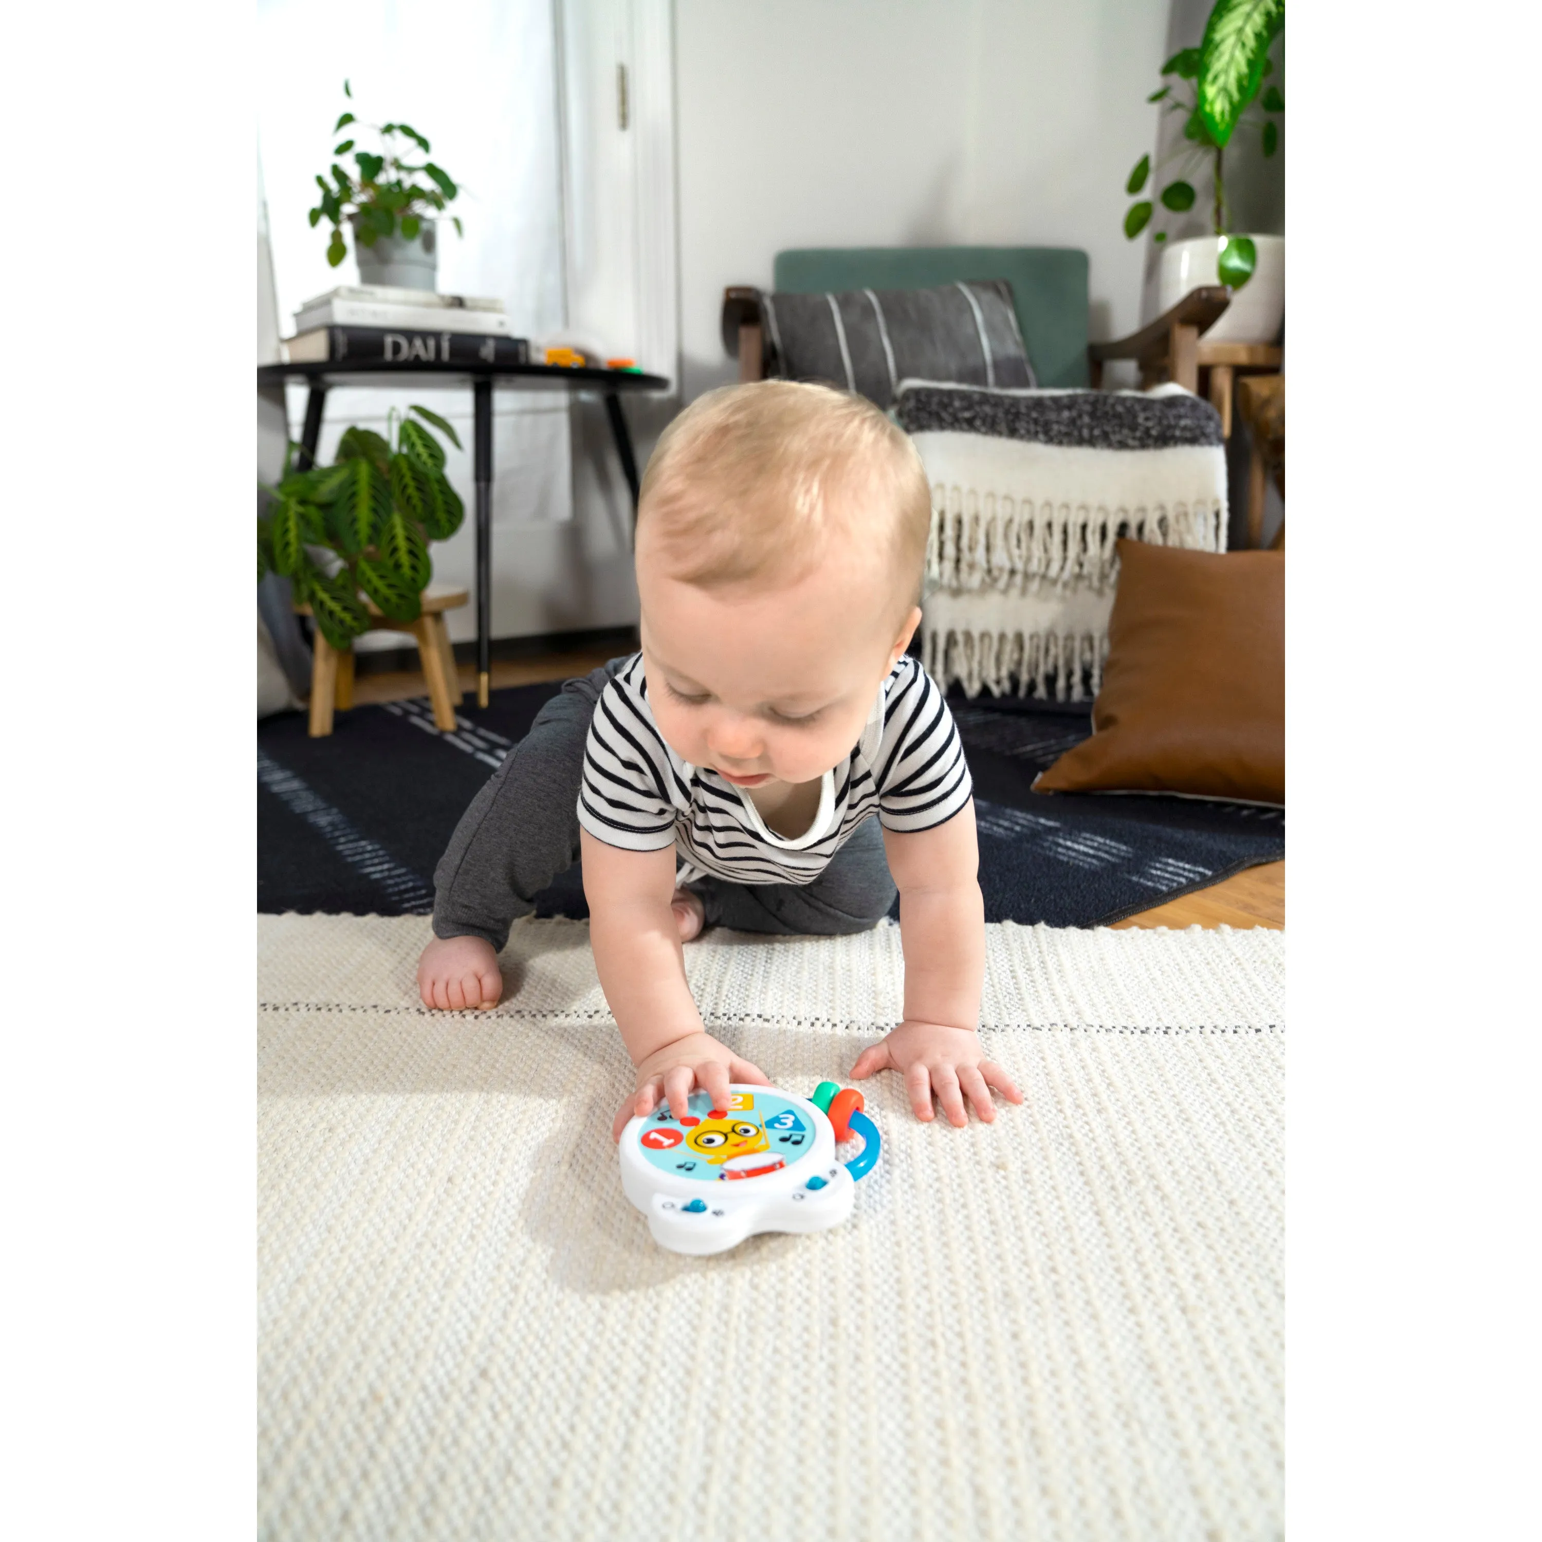
<instances>
[{"instance_id":1,"label":"green leaves of plant above the books, without its grey pot","mask_svg":"<svg viewBox=\"0 0 1542 1542\"><path fill-rule=\"evenodd\" d=\"M342 82L342 93L350 100L353 88ZM379 154L359 150L353 137L359 130L370 128L379 137ZM327 244L327 261L336 267L348 248L342 239L342 225L353 225L353 239L373 247L381 236L398 231L409 241L416 239L424 219L443 214L460 188L443 167L429 156L429 140L410 123L359 123L352 113L342 113L333 125L333 136L347 131L332 148L332 167L325 176L318 174L316 187L321 199L310 211L310 227L315 230L324 219L332 222L332 241ZM353 156L355 170L341 165L341 157ZM421 154L421 162L412 162ZM409 157L409 159L404 159ZM419 176L429 183L424 187ZM450 224L458 236L464 234L460 217L452 214Z\"/></svg>"}]
</instances>

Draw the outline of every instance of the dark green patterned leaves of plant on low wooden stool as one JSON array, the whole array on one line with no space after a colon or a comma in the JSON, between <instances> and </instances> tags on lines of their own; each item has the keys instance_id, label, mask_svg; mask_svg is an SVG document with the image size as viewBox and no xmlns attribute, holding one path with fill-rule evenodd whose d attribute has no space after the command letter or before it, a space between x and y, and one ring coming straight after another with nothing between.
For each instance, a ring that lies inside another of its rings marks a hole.
<instances>
[{"instance_id":1,"label":"dark green patterned leaves of plant on low wooden stool","mask_svg":"<svg viewBox=\"0 0 1542 1542\"><path fill-rule=\"evenodd\" d=\"M460 449L455 429L427 407L409 412L423 423L393 410L384 438L348 429L332 466L291 470L291 444L279 484L259 484L271 501L258 518L258 580L288 578L338 649L369 631L365 600L393 621L418 620L433 572L429 543L449 540L466 517L444 475L444 446L424 424Z\"/></svg>"}]
</instances>

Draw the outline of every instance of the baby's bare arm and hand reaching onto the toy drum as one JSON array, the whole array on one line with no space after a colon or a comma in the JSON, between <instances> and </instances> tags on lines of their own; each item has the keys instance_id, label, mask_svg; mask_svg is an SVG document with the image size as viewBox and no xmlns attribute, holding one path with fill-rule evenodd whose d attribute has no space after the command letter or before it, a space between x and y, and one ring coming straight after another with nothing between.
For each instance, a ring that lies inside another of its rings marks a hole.
<instances>
[{"instance_id":1,"label":"baby's bare arm and hand reaching onto the toy drum","mask_svg":"<svg viewBox=\"0 0 1542 1542\"><path fill-rule=\"evenodd\" d=\"M675 891L674 845L662 851L623 851L588 830L583 840L583 891L589 901L589 942L600 988L621 1042L637 1067L637 1090L621 1104L614 1135L634 1113L652 1112L660 1096L675 1118L691 1112L692 1087L728 1107L728 1086L766 1076L719 1044L702 1025L685 979L680 925L669 902Z\"/></svg>"}]
</instances>

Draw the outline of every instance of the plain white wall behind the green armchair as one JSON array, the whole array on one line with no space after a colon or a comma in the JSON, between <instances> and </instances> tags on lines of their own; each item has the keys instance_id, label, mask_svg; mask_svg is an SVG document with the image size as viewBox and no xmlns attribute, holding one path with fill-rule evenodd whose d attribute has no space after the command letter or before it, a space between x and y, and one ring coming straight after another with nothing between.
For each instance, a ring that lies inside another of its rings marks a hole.
<instances>
[{"instance_id":1,"label":"plain white wall behind the green armchair","mask_svg":"<svg viewBox=\"0 0 1542 1542\"><path fill-rule=\"evenodd\" d=\"M1166 31L1167 0L675 0L686 396L786 247L1081 247L1092 336L1132 332Z\"/></svg>"}]
</instances>

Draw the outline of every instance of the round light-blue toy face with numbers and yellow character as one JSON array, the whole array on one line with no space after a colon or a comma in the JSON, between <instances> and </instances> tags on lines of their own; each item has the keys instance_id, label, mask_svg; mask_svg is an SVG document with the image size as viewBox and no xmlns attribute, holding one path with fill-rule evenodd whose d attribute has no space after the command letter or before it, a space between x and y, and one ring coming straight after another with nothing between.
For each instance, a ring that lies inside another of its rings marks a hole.
<instances>
[{"instance_id":1,"label":"round light-blue toy face with numbers and yellow character","mask_svg":"<svg viewBox=\"0 0 1542 1542\"><path fill-rule=\"evenodd\" d=\"M813 1152L806 1115L776 1093L734 1092L726 1109L714 1109L705 1092L689 1101L683 1119L662 1104L635 1135L638 1150L662 1172L697 1183L743 1181L780 1172Z\"/></svg>"}]
</instances>

